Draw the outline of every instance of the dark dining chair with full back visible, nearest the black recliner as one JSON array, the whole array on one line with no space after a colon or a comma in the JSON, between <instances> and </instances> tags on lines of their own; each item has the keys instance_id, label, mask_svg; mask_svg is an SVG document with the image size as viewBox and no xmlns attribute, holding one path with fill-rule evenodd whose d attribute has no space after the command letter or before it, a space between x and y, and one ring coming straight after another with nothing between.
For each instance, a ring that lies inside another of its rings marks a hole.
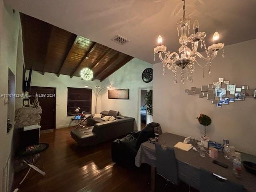
<instances>
[{"instance_id":1,"label":"dark dining chair with full back visible, nearest the black recliner","mask_svg":"<svg viewBox=\"0 0 256 192\"><path fill-rule=\"evenodd\" d=\"M159 143L156 146L156 172L167 180L164 189L169 183L178 185L178 165L174 149L167 147L164 149ZM163 191L164 191L163 189Z\"/></svg>"}]
</instances>

